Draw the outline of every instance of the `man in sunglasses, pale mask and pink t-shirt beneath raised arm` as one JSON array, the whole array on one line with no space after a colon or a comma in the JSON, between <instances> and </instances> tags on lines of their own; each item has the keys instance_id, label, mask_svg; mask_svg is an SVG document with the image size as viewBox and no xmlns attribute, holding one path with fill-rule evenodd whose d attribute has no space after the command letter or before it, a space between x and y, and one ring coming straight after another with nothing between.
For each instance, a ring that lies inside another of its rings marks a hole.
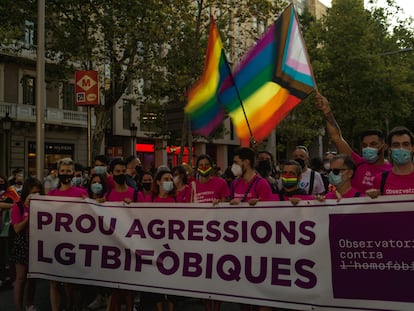
<instances>
[{"instance_id":1,"label":"man in sunglasses, pale mask and pink t-shirt beneath raised arm","mask_svg":"<svg viewBox=\"0 0 414 311\"><path fill-rule=\"evenodd\" d=\"M347 154L335 155L330 161L328 174L329 182L335 186L335 190L328 192L325 199L340 201L342 198L364 196L364 193L352 186L351 180L355 169L356 165L351 156Z\"/></svg>"}]
</instances>

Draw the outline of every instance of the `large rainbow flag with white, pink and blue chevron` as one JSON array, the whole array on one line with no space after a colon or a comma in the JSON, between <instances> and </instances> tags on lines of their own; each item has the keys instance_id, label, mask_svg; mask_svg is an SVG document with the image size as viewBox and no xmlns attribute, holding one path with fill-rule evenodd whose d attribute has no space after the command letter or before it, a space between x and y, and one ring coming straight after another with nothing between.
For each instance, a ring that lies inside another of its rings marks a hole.
<instances>
[{"instance_id":1,"label":"large rainbow flag with white, pink and blue chevron","mask_svg":"<svg viewBox=\"0 0 414 311\"><path fill-rule=\"evenodd\" d=\"M223 83L220 101L243 146L265 139L316 87L299 27L291 4Z\"/></svg>"}]
</instances>

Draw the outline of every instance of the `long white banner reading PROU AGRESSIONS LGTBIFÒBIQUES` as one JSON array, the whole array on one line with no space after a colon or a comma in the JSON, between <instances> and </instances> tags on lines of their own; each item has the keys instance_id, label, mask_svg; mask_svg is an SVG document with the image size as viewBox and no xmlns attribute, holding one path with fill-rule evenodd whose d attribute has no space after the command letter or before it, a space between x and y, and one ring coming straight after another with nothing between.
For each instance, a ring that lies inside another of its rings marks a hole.
<instances>
[{"instance_id":1,"label":"long white banner reading PROU AGRESSIONS LGTBIF\u00d2BIQUES","mask_svg":"<svg viewBox=\"0 0 414 311\"><path fill-rule=\"evenodd\" d=\"M230 206L37 196L29 276L297 310L414 310L413 196Z\"/></svg>"}]
</instances>

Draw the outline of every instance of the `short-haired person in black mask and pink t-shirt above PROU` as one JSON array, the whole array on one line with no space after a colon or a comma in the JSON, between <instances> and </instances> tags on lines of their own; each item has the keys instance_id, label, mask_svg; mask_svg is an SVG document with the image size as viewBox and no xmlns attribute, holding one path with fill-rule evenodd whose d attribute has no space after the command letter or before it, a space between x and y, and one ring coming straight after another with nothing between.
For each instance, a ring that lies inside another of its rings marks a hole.
<instances>
[{"instance_id":1,"label":"short-haired person in black mask and pink t-shirt above PROU","mask_svg":"<svg viewBox=\"0 0 414 311\"><path fill-rule=\"evenodd\" d=\"M72 178L74 176L74 162L70 158L63 158L59 160L57 165L57 172L59 178L58 187L48 192L50 196L73 197L73 198L87 198L88 192L85 189L72 186ZM59 283L57 281L50 281L50 305L52 311L60 310L61 297L59 290ZM72 308L72 292L73 285L64 283L66 302L68 309Z\"/></svg>"}]
</instances>

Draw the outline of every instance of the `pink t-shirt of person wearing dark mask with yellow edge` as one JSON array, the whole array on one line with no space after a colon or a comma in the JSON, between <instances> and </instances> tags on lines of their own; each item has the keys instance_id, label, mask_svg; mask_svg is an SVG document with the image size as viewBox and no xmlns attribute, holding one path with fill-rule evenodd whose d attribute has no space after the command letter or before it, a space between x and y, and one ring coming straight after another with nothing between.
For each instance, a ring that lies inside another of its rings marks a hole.
<instances>
[{"instance_id":1,"label":"pink t-shirt of person wearing dark mask with yellow edge","mask_svg":"<svg viewBox=\"0 0 414 311\"><path fill-rule=\"evenodd\" d=\"M206 183L195 181L197 201L199 203L210 203L213 199L226 199L230 196L230 189L223 178L211 176Z\"/></svg>"}]
</instances>

